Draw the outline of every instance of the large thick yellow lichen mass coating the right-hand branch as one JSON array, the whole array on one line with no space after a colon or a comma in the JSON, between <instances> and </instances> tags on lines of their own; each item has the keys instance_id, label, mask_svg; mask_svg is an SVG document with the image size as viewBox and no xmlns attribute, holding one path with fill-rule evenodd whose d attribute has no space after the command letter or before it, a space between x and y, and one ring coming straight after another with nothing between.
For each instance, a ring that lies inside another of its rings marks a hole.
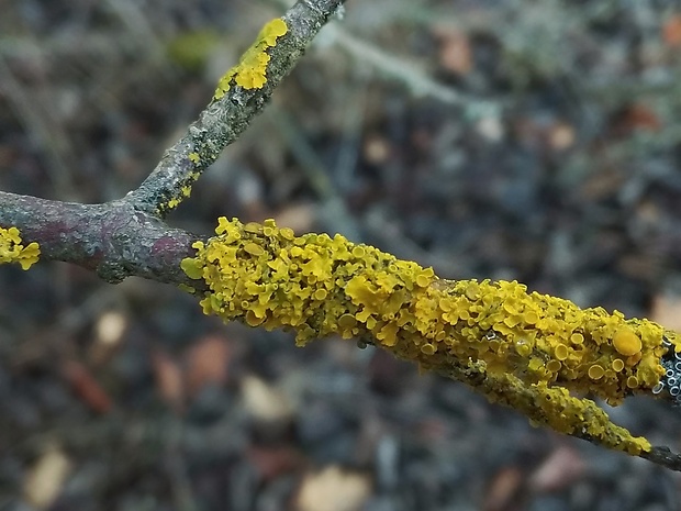
<instances>
[{"instance_id":1,"label":"large thick yellow lichen mass coating the right-hand branch","mask_svg":"<svg viewBox=\"0 0 681 511\"><path fill-rule=\"evenodd\" d=\"M271 220L244 225L221 218L215 232L182 262L210 288L201 301L206 314L292 329L299 345L331 334L371 340L440 373L472 360L485 381L505 382L489 397L531 418L542 411L537 422L573 433L582 419L595 421L584 435L630 453L649 448L645 440L622 437L626 430L603 426L602 418L593 419L600 409L569 392L612 404L649 392L663 374L662 335L679 345L656 323L582 310L515 281L442 280L432 268L342 235L295 237Z\"/></svg>"}]
</instances>

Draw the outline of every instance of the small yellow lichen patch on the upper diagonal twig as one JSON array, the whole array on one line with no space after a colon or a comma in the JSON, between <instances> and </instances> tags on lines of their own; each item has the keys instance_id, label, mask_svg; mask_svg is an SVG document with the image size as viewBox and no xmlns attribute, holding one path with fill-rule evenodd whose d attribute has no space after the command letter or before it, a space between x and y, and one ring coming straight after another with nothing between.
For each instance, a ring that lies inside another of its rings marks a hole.
<instances>
[{"instance_id":1,"label":"small yellow lichen patch on the upper diagonal twig","mask_svg":"<svg viewBox=\"0 0 681 511\"><path fill-rule=\"evenodd\" d=\"M232 87L232 80L244 89L261 89L267 81L267 49L277 45L277 38L288 32L281 18L268 22L256 38L256 42L242 55L239 63L230 69L217 84L213 99L222 98Z\"/></svg>"}]
</instances>

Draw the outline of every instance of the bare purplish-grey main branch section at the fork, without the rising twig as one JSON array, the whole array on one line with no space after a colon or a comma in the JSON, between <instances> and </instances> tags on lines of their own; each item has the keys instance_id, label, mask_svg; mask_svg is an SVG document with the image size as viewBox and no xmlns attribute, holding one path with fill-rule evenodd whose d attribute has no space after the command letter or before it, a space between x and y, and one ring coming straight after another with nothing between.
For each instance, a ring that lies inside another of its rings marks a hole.
<instances>
[{"instance_id":1,"label":"bare purplish-grey main branch section at the fork, without the rising twig","mask_svg":"<svg viewBox=\"0 0 681 511\"><path fill-rule=\"evenodd\" d=\"M103 280L137 276L166 284L192 282L180 269L197 240L123 199L78 204L0 191L0 225L37 242L41 258L72 263ZM196 282L192 287L196 287Z\"/></svg>"}]
</instances>

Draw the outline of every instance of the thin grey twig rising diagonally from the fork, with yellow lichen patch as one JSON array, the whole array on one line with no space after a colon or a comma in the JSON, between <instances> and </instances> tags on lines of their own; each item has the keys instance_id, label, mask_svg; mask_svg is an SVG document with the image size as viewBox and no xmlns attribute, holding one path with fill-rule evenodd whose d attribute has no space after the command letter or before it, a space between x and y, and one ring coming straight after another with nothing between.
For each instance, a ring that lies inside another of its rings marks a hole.
<instances>
[{"instance_id":1,"label":"thin grey twig rising diagonally from the fork, with yellow lichen patch","mask_svg":"<svg viewBox=\"0 0 681 511\"><path fill-rule=\"evenodd\" d=\"M131 192L137 208L164 216L267 104L272 91L344 0L301 0L265 25L238 64L220 80L211 103Z\"/></svg>"}]
</instances>

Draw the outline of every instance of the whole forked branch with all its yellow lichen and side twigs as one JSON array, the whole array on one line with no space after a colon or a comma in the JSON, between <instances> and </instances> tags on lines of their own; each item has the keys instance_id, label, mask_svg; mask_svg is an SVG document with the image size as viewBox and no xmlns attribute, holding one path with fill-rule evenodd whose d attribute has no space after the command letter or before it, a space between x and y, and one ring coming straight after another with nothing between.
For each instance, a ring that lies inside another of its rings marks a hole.
<instances>
[{"instance_id":1,"label":"whole forked branch with all its yellow lichen and side twigs","mask_svg":"<svg viewBox=\"0 0 681 511\"><path fill-rule=\"evenodd\" d=\"M380 346L460 380L536 424L681 470L681 457L611 422L585 395L681 402L681 340L647 320L579 309L512 281L448 281L345 237L220 219L216 236L163 218L247 127L343 0L301 0L265 25L156 169L127 197L76 204L0 192L0 263L74 263L109 282L183 285L205 313Z\"/></svg>"}]
</instances>

